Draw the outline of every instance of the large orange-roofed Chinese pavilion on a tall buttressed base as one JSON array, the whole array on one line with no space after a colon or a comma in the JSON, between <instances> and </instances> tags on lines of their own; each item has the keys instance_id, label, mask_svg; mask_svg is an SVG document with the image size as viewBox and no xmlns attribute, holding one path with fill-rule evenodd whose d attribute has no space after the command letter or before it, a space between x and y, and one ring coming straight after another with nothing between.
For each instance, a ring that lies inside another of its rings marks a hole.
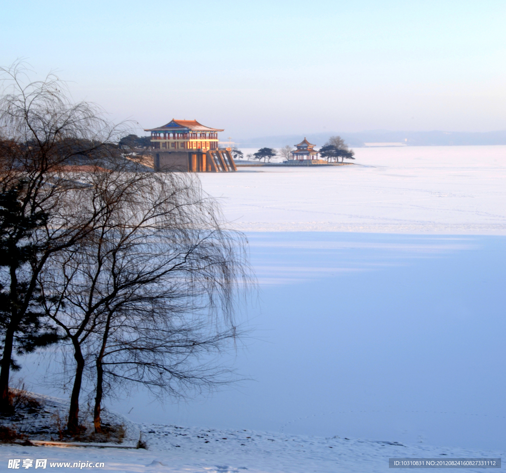
<instances>
[{"instance_id":1,"label":"large orange-roofed Chinese pavilion on a tall buttressed base","mask_svg":"<svg viewBox=\"0 0 506 473\"><path fill-rule=\"evenodd\" d=\"M190 173L236 171L230 148L218 147L219 128L209 128L197 120L172 119L166 125L144 130L151 132L156 170Z\"/></svg>"}]
</instances>

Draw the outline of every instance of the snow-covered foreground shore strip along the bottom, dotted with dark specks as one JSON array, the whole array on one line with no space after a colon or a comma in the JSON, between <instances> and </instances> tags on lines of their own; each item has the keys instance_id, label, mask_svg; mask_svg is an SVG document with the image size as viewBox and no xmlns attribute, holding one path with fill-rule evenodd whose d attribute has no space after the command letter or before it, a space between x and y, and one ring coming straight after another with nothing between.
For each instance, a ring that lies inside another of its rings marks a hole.
<instances>
[{"instance_id":1,"label":"snow-covered foreground shore strip along the bottom, dotted with dark specks","mask_svg":"<svg viewBox=\"0 0 506 473\"><path fill-rule=\"evenodd\" d=\"M68 471L74 462L91 462L92 465L103 462L103 467L80 469L104 473L375 473L389 470L389 458L500 458L503 454L503 451L337 436L292 436L248 429L159 424L143 424L141 428L148 450L9 445L0 449L0 468L9 471L9 459L18 459L21 464L24 459L34 460L33 464L36 459L46 459L46 471ZM460 471L480 470L464 468Z\"/></svg>"}]
</instances>

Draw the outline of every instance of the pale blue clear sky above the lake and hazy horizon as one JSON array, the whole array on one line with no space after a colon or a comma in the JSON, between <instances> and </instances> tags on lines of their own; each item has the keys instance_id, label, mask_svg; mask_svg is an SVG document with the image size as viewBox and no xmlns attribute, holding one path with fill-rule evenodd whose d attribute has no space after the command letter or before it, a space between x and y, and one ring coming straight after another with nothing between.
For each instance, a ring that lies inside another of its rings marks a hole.
<instances>
[{"instance_id":1,"label":"pale blue clear sky above the lake and hazy horizon","mask_svg":"<svg viewBox=\"0 0 506 473\"><path fill-rule=\"evenodd\" d=\"M0 65L56 70L139 132L486 132L506 129L505 20L495 0L4 0Z\"/></svg>"}]
</instances>

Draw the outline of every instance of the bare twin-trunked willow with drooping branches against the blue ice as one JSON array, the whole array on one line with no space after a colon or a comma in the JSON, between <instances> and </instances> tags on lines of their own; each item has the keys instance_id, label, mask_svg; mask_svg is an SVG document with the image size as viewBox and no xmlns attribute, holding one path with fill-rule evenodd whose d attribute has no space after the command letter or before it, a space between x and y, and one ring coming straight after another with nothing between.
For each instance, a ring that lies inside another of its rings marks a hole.
<instances>
[{"instance_id":1,"label":"bare twin-trunked willow with drooping branches against the blue ice","mask_svg":"<svg viewBox=\"0 0 506 473\"><path fill-rule=\"evenodd\" d=\"M225 382L226 370L205 357L236 336L234 297L249 280L242 235L221 229L216 202L192 175L121 165L83 183L79 205L107 210L39 278L46 314L76 362L70 433L79 431L86 372L96 432L104 387L136 382L178 396Z\"/></svg>"}]
</instances>

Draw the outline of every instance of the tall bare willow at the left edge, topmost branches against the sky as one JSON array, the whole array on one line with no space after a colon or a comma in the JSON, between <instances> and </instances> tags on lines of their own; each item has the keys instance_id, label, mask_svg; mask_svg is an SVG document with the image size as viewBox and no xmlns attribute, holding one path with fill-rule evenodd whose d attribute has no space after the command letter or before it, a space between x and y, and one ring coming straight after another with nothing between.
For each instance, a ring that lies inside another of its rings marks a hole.
<instances>
[{"instance_id":1,"label":"tall bare willow at the left edge, topmost branches against the sky","mask_svg":"<svg viewBox=\"0 0 506 473\"><path fill-rule=\"evenodd\" d=\"M52 254L90 233L101 211L83 215L65 208L63 196L73 190L78 200L83 190L65 166L104 163L115 129L96 107L72 103L54 75L30 81L16 63L0 68L0 80L0 248L11 255L9 249L25 250L0 262L0 410L8 411L14 353L56 340L44 321L37 278Z\"/></svg>"}]
</instances>

